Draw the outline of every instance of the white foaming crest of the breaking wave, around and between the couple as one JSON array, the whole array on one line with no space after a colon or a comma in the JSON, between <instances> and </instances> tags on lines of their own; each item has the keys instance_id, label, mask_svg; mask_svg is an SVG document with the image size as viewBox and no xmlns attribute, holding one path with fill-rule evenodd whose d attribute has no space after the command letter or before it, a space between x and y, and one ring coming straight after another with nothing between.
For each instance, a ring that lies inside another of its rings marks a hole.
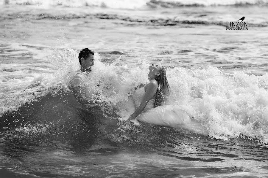
<instances>
[{"instance_id":1,"label":"white foaming crest of the breaking wave, around and between the couple","mask_svg":"<svg viewBox=\"0 0 268 178\"><path fill-rule=\"evenodd\" d=\"M13 90L1 89L1 121L22 125L23 130L24 125L27 125L25 118L37 123L42 120L53 122L54 118L61 120L60 114L46 114L51 111L53 104L58 113L61 113L63 107L66 110L77 107L83 110L68 89L72 72L79 69L78 61L74 60L77 59L77 51L59 49L56 53L58 55L51 55L48 59L58 69L56 73L1 82L5 88L17 86ZM129 69L126 65L117 65L118 61L120 58L112 63L104 63L96 53L91 72L94 89L100 93L99 98L103 103L101 108L108 113L113 112L115 120L133 112L128 96L133 87L148 82L149 66L147 61L139 61L139 66ZM267 74L225 74L216 67L185 69L173 66L167 69L167 77L172 88L172 97L167 104L191 107L191 114L208 129L209 136L217 139L244 137L268 142ZM42 104L30 109L34 113L38 112L40 117L33 118L33 114L25 114L27 107L40 100ZM74 113L72 110L68 112ZM90 117L96 116L95 112L91 113Z\"/></svg>"}]
</instances>

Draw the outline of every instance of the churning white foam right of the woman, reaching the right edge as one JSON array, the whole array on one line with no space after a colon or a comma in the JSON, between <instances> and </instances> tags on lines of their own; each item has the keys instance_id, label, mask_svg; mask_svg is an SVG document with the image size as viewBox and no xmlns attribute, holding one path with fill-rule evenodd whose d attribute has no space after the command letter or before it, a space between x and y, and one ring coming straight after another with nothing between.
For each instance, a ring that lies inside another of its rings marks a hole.
<instances>
[{"instance_id":1,"label":"churning white foam right of the woman, reaching the right edge","mask_svg":"<svg viewBox=\"0 0 268 178\"><path fill-rule=\"evenodd\" d=\"M218 68L183 69L168 72L173 89L171 104L190 105L195 118L205 123L209 135L228 139L268 136L268 75L228 75Z\"/></svg>"}]
</instances>

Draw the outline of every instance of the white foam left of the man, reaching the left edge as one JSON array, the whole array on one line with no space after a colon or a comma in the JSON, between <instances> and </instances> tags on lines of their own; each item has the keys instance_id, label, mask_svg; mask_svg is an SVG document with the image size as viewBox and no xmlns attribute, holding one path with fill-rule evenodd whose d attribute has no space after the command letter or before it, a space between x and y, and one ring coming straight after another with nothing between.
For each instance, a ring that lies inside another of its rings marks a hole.
<instances>
[{"instance_id":1,"label":"white foam left of the man, reaching the left edge","mask_svg":"<svg viewBox=\"0 0 268 178\"><path fill-rule=\"evenodd\" d=\"M59 52L63 51L63 52ZM29 64L3 64L0 69L13 69L14 71L2 71L0 76L0 116L6 112L19 109L22 104L36 101L39 97L45 96L49 88L61 88L66 85L68 74L79 69L78 55L75 50L56 49L59 55L49 55L47 62L57 69L43 69L41 72L32 72L38 69ZM63 62L64 61L64 62ZM74 62L76 61L76 62ZM66 64L66 65L64 65ZM26 69L23 69L26 68ZM21 70L23 69L23 70Z\"/></svg>"}]
</instances>

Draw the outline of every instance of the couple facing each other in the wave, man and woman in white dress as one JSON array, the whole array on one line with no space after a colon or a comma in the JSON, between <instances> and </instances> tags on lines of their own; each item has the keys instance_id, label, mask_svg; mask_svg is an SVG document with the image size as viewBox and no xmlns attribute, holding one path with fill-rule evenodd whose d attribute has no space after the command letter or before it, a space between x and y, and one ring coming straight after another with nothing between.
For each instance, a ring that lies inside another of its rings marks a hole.
<instances>
[{"instance_id":1,"label":"couple facing each other in the wave, man and woman in white dress","mask_svg":"<svg viewBox=\"0 0 268 178\"><path fill-rule=\"evenodd\" d=\"M96 93L92 89L91 79L86 73L91 72L94 65L94 51L82 49L78 56L81 68L75 72L71 81L74 92L82 104L98 104ZM161 65L149 66L149 83L139 85L132 92L135 112L128 120L139 120L155 125L193 125L193 117L189 108L183 105L164 105L170 95L170 87L166 77L166 69Z\"/></svg>"}]
</instances>

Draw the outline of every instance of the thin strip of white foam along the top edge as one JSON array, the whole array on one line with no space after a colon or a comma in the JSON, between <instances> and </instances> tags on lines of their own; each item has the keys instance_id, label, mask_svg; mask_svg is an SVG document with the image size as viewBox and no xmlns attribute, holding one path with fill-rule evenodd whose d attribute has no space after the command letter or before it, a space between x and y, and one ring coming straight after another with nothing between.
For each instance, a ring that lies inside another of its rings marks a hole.
<instances>
[{"instance_id":1,"label":"thin strip of white foam along the top edge","mask_svg":"<svg viewBox=\"0 0 268 178\"><path fill-rule=\"evenodd\" d=\"M147 4L157 7L177 7L181 5L234 5L234 4L266 4L267 0L161 0L161 1L149 1L149 0L0 0L0 4L37 4L47 7L50 5L63 5L70 7L83 7L83 6L98 6L98 7L108 7L114 9L138 9L145 7Z\"/></svg>"}]
</instances>

